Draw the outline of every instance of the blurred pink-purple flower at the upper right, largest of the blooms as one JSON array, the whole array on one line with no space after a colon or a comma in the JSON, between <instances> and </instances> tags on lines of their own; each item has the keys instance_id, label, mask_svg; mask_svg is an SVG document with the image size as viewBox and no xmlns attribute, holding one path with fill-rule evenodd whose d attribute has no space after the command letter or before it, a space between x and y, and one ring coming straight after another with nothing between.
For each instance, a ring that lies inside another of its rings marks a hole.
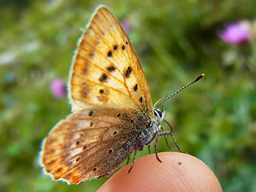
<instances>
[{"instance_id":1,"label":"blurred pink-purple flower at the upper right, largest of the blooms","mask_svg":"<svg viewBox=\"0 0 256 192\"><path fill-rule=\"evenodd\" d=\"M218 36L231 45L240 45L250 38L250 24L246 21L230 23Z\"/></svg>"}]
</instances>

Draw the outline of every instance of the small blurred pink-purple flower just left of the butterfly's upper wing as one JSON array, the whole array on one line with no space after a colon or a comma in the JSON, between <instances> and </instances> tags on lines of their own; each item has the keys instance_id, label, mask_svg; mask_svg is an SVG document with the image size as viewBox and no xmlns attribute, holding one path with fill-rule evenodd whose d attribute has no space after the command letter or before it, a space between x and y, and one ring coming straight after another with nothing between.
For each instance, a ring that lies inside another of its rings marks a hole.
<instances>
[{"instance_id":1,"label":"small blurred pink-purple flower just left of the butterfly's upper wing","mask_svg":"<svg viewBox=\"0 0 256 192\"><path fill-rule=\"evenodd\" d=\"M63 98L66 96L66 86L59 78L55 78L51 82L50 89L54 98Z\"/></svg>"}]
</instances>

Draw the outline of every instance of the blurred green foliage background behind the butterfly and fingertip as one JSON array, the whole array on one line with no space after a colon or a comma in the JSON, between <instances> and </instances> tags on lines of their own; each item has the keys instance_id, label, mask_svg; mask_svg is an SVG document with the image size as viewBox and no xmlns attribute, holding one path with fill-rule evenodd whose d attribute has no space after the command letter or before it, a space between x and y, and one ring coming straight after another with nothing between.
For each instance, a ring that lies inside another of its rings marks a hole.
<instances>
[{"instance_id":1,"label":"blurred green foliage background behind the butterfly and fingertip","mask_svg":"<svg viewBox=\"0 0 256 192\"><path fill-rule=\"evenodd\" d=\"M100 1L0 1L0 189L95 191L107 178L67 186L38 166L42 139L70 113L50 82L67 82L79 30ZM226 23L254 21L254 0L104 1L130 21L129 37L153 101L202 72L200 82L165 102L182 150L217 175L224 191L256 191L256 43L218 38ZM166 126L165 126L166 127ZM166 127L167 129L167 127ZM160 139L159 151L168 150ZM138 157L147 154L138 153Z\"/></svg>"}]
</instances>

